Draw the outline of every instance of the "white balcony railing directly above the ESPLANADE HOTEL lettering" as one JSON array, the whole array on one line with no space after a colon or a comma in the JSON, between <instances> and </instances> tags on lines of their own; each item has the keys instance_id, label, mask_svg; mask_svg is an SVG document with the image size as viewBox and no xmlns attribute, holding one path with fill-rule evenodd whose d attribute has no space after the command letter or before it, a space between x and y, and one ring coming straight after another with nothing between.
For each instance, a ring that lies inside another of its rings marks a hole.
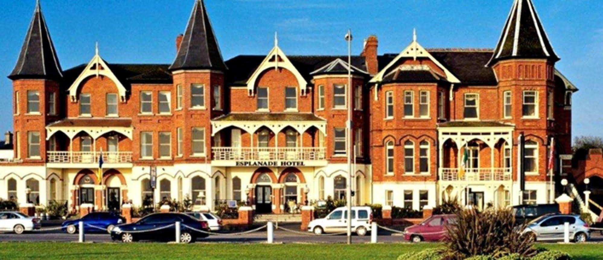
<instances>
[{"instance_id":1,"label":"white balcony railing directly above the ESPLANADE HOTEL lettering","mask_svg":"<svg viewBox=\"0 0 603 260\"><path fill-rule=\"evenodd\" d=\"M324 160L324 147L213 147L212 160Z\"/></svg>"}]
</instances>

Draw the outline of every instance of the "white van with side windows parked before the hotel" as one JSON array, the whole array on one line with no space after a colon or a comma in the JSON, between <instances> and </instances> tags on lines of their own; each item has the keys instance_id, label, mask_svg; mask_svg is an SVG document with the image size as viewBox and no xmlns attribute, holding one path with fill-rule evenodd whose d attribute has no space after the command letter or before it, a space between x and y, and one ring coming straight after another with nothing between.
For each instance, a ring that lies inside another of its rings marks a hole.
<instances>
[{"instance_id":1,"label":"white van with side windows parked before the hotel","mask_svg":"<svg viewBox=\"0 0 603 260\"><path fill-rule=\"evenodd\" d=\"M352 232L364 236L371 230L373 213L369 206L352 207ZM347 230L347 207L333 210L325 218L317 218L308 224L308 232L317 235L322 233L341 233Z\"/></svg>"}]
</instances>

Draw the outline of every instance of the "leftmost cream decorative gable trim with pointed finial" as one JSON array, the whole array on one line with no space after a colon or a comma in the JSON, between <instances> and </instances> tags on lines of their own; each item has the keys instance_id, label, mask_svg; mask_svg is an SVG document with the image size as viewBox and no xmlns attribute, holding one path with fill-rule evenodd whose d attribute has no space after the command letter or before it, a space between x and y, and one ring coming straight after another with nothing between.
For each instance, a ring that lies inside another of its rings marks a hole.
<instances>
[{"instance_id":1,"label":"leftmost cream decorative gable trim with pointed finial","mask_svg":"<svg viewBox=\"0 0 603 260\"><path fill-rule=\"evenodd\" d=\"M80 88L81 83L86 80L88 77L98 77L99 75L103 75L104 77L109 78L115 83L117 86L119 98L121 102L125 102L125 87L118 78L113 74L113 72L107 66L107 63L98 55L98 44L96 45L96 54L92 57L92 60L86 65L84 71L75 79L74 83L69 87L69 98L71 98L71 102L77 101L77 91Z\"/></svg>"}]
</instances>

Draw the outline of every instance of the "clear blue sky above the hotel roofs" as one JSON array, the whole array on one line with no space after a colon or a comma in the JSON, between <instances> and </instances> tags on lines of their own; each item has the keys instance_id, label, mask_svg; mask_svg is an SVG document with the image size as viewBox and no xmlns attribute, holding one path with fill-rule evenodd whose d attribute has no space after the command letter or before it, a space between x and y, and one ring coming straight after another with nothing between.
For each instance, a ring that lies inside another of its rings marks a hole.
<instances>
[{"instance_id":1,"label":"clear blue sky above the hotel roofs","mask_svg":"<svg viewBox=\"0 0 603 260\"><path fill-rule=\"evenodd\" d=\"M513 0L206 0L224 59L267 54L274 31L286 54L353 53L379 37L379 54L398 53L412 28L426 48L494 48ZM99 42L110 63L171 63L174 39L194 0L42 0L63 69L87 63ZM603 1L534 0L561 61L557 68L580 91L573 99L573 135L603 128ZM34 0L0 1L0 131L12 130L10 74L34 10Z\"/></svg>"}]
</instances>

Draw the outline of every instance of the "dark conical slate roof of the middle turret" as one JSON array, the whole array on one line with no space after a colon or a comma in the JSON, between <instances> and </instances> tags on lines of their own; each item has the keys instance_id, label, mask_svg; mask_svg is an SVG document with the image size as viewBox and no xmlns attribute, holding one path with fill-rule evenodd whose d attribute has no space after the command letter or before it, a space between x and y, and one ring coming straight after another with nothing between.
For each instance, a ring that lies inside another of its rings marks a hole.
<instances>
[{"instance_id":1,"label":"dark conical slate roof of the middle turret","mask_svg":"<svg viewBox=\"0 0 603 260\"><path fill-rule=\"evenodd\" d=\"M195 1L176 59L169 69L227 69L203 0Z\"/></svg>"}]
</instances>

